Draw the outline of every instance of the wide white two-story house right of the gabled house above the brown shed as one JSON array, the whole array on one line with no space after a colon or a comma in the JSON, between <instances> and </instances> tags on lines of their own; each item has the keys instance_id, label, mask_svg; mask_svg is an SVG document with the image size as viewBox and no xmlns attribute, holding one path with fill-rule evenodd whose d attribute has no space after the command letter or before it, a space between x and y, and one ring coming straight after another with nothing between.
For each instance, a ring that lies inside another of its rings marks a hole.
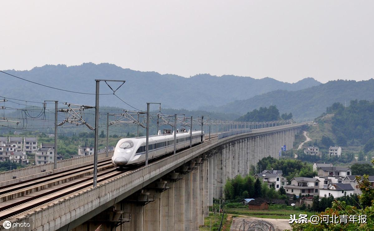
<instances>
[{"instance_id":1,"label":"wide white two-story house right of the gabled house above the brown shed","mask_svg":"<svg viewBox=\"0 0 374 231\"><path fill-rule=\"evenodd\" d=\"M294 177L291 184L284 187L287 193L299 195L319 195L319 180L309 177Z\"/></svg>"}]
</instances>

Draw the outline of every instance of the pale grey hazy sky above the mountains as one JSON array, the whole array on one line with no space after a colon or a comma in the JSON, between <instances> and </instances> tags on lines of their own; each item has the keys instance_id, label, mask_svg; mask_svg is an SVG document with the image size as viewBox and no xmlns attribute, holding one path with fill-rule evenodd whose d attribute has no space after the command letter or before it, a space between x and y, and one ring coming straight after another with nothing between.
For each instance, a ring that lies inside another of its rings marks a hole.
<instances>
[{"instance_id":1,"label":"pale grey hazy sky above the mountains","mask_svg":"<svg viewBox=\"0 0 374 231\"><path fill-rule=\"evenodd\" d=\"M1 1L0 70L109 62L189 77L374 77L374 1Z\"/></svg>"}]
</instances>

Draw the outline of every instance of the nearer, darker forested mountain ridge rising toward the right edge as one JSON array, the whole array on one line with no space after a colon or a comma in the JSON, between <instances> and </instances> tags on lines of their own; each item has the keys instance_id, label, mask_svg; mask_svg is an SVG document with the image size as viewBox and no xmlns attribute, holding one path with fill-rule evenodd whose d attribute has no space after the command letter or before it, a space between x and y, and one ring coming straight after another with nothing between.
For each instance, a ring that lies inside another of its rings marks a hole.
<instances>
[{"instance_id":1,"label":"nearer, darker forested mountain ridge rising toward the right edge","mask_svg":"<svg viewBox=\"0 0 374 231\"><path fill-rule=\"evenodd\" d=\"M207 111L245 114L260 107L276 105L281 113L294 118L313 118L325 112L334 102L349 105L355 99L374 99L374 80L335 80L298 91L275 90L249 99L238 100L220 107L204 107Z\"/></svg>"}]
</instances>

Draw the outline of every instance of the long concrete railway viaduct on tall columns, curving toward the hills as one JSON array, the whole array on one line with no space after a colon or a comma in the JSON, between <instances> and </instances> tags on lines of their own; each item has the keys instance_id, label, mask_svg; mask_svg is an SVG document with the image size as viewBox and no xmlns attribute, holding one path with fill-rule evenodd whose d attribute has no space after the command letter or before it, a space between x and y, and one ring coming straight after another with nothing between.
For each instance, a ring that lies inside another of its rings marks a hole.
<instances>
[{"instance_id":1,"label":"long concrete railway viaduct on tall columns, curving toward the hills","mask_svg":"<svg viewBox=\"0 0 374 231\"><path fill-rule=\"evenodd\" d=\"M77 184L76 187L81 186L79 190L6 220L26 222L30 228L25 230L40 231L198 230L208 216L213 198L224 197L227 178L248 174L250 166L263 157L278 158L280 147L292 147L295 134L305 124L221 133L215 139L147 166L116 171L108 179L99 175L95 188L91 184L87 187ZM101 157L99 160L110 158ZM68 168L62 166L59 169ZM40 169L37 172L46 174ZM12 174L27 177L22 171ZM9 176L0 175L1 182L4 177Z\"/></svg>"}]
</instances>

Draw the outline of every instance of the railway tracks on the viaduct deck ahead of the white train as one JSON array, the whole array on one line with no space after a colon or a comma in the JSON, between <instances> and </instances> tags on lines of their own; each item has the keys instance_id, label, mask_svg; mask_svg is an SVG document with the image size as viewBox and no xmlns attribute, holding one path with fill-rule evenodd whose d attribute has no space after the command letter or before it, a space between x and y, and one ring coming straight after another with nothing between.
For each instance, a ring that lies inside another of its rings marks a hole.
<instances>
[{"instance_id":1,"label":"railway tracks on the viaduct deck ahead of the white train","mask_svg":"<svg viewBox=\"0 0 374 231\"><path fill-rule=\"evenodd\" d=\"M205 141L218 139L218 135L205 136ZM164 157L163 157L164 158ZM157 160L154 160L157 161ZM141 167L141 166L137 166ZM100 161L98 165L98 183L126 174L136 169L132 167L119 172L111 160ZM92 164L53 173L49 176L30 179L0 187L0 221L13 218L19 213L35 209L53 200L77 193L92 187Z\"/></svg>"}]
</instances>

